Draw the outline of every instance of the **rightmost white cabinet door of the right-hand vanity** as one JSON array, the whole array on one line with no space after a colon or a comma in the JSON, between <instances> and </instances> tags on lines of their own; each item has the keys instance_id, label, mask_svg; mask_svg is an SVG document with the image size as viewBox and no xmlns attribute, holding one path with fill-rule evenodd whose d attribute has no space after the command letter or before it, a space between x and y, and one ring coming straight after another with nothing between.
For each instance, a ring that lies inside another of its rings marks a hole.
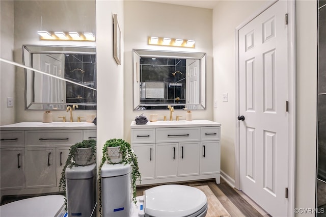
<instances>
[{"instance_id":1,"label":"rightmost white cabinet door of the right-hand vanity","mask_svg":"<svg viewBox=\"0 0 326 217\"><path fill-rule=\"evenodd\" d=\"M220 141L200 143L200 175L220 173Z\"/></svg>"}]
</instances>

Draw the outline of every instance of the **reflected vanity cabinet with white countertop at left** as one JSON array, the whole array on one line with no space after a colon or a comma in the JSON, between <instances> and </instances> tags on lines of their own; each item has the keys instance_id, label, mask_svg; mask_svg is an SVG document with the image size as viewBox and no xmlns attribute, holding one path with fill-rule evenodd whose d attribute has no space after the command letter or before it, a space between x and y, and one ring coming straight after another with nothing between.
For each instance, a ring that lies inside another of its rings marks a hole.
<instances>
[{"instance_id":1,"label":"reflected vanity cabinet with white countertop at left","mask_svg":"<svg viewBox=\"0 0 326 217\"><path fill-rule=\"evenodd\" d=\"M22 122L1 126L1 196L59 192L70 146L96 139L92 123L64 124L53 122L47 127L41 122Z\"/></svg>"}]
</instances>

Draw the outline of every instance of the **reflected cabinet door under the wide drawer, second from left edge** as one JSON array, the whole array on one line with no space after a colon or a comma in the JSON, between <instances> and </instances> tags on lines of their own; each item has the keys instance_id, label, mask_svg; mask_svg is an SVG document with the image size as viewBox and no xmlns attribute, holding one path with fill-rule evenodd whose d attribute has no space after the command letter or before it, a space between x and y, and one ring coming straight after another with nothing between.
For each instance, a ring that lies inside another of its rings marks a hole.
<instances>
[{"instance_id":1,"label":"reflected cabinet door under the wide drawer, second from left edge","mask_svg":"<svg viewBox=\"0 0 326 217\"><path fill-rule=\"evenodd\" d=\"M26 188L55 187L56 148L26 148Z\"/></svg>"}]
</instances>

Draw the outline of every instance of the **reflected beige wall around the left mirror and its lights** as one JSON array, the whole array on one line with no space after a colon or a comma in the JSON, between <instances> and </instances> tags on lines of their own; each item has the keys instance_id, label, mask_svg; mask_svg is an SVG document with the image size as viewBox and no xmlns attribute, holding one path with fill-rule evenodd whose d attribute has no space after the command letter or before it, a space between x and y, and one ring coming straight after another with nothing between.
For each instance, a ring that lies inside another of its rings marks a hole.
<instances>
[{"instance_id":1,"label":"reflected beige wall around the left mirror and its lights","mask_svg":"<svg viewBox=\"0 0 326 217\"><path fill-rule=\"evenodd\" d=\"M3 2L3 1L2 1ZM6 2L6 1L4 1ZM70 45L95 46L95 42L44 41L39 39L38 30L76 31L95 33L95 1L13 1L14 2L14 61L22 63L22 45ZM3 14L1 14L1 20ZM6 20L7 21L7 20ZM5 22L6 22L5 21ZM3 47L2 47L3 50ZM9 50L6 50L8 52ZM24 70L16 67L16 80L10 83L15 86L15 122L42 121L43 111L24 110ZM4 111L5 112L5 111ZM74 112L77 116L95 114L96 112ZM1 111L1 116L7 113ZM66 111L53 111L53 121L61 121L58 116L69 116ZM68 119L67 119L68 120Z\"/></svg>"}]
</instances>

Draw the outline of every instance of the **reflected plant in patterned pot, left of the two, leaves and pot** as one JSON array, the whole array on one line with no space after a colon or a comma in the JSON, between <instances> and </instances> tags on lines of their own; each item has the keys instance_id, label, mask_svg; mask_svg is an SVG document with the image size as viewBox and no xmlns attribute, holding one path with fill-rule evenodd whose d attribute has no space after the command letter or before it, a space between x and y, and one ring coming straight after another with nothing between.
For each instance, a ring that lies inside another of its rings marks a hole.
<instances>
[{"instance_id":1,"label":"reflected plant in patterned pot, left of the two, leaves and pot","mask_svg":"<svg viewBox=\"0 0 326 217\"><path fill-rule=\"evenodd\" d=\"M67 211L67 192L66 192L66 169L73 166L87 166L96 162L96 140L83 140L83 142L75 143L69 149L69 155L66 164L62 169L59 181L59 191L64 192L65 210Z\"/></svg>"}]
</instances>

